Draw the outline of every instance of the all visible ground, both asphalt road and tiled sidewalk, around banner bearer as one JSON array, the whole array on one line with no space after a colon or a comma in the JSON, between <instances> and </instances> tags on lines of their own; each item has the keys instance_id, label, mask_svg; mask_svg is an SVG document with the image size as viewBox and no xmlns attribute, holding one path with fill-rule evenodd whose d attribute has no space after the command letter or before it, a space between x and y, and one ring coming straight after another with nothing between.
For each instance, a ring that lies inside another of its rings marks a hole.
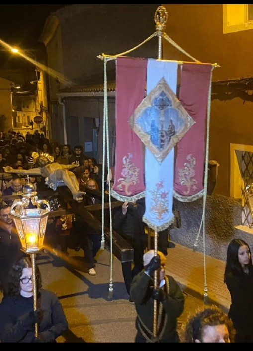
<instances>
[{"instance_id":1,"label":"all visible ground, both asphalt road and tiled sidewalk, around banner bearer","mask_svg":"<svg viewBox=\"0 0 253 351\"><path fill-rule=\"evenodd\" d=\"M207 256L208 300L204 299L203 254L174 244L168 249L166 273L172 275L185 292L185 311L178 319L180 335L190 310L195 311L205 302L221 305L226 311L230 305L230 295L223 283L225 263ZM97 274L91 276L84 271L84 252L73 249L68 249L68 252L69 256L62 257L40 252L36 259L43 287L55 291L69 323L69 330L57 341L134 342L136 311L135 306L128 302L119 260L113 256L111 271L109 252L100 250L95 267ZM109 296L111 276L112 297Z\"/></svg>"}]
</instances>

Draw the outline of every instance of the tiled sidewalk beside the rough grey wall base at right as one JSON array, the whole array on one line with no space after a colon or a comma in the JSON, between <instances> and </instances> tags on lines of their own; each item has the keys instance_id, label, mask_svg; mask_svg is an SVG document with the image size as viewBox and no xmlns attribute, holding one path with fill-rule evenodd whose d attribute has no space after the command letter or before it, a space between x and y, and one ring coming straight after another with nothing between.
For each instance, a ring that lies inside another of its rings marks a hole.
<instances>
[{"instance_id":1,"label":"tiled sidewalk beside the rough grey wall base at right","mask_svg":"<svg viewBox=\"0 0 253 351\"><path fill-rule=\"evenodd\" d=\"M185 292L203 299L206 303L215 303L228 312L231 299L226 284L223 282L225 262L206 255L206 269L204 270L203 253L178 243L174 244L175 247L167 251L167 274L172 275ZM207 299L204 298L205 276Z\"/></svg>"}]
</instances>

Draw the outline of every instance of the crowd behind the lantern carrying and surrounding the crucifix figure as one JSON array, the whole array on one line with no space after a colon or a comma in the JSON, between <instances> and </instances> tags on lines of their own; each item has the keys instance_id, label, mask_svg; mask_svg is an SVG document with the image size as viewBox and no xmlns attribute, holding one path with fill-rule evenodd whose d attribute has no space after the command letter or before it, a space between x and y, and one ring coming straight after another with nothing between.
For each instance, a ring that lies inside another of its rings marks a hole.
<instances>
[{"instance_id":1,"label":"crowd behind the lantern carrying and surrounding the crucifix figure","mask_svg":"<svg viewBox=\"0 0 253 351\"><path fill-rule=\"evenodd\" d=\"M69 145L49 143L49 140L37 130L33 134L27 132L25 137L21 135L12 130L8 135L1 135L0 171L3 204L11 206L13 200L7 196L21 194L23 186L28 181L37 192L67 186L73 199L84 205L92 203L92 199L85 196L86 188L101 192L104 181L106 189L106 178L102 179L102 165L98 165L95 158L84 155L81 145L76 145L72 150ZM29 179L26 178L27 175ZM59 198L53 197L49 200L54 210L62 204ZM76 236L75 248L84 250L85 269L89 274L95 275L94 256L100 248L101 236L93 233L92 227L82 216L76 215L74 218L75 221L73 216L50 217L45 243L54 254L68 255L70 235Z\"/></svg>"}]
</instances>

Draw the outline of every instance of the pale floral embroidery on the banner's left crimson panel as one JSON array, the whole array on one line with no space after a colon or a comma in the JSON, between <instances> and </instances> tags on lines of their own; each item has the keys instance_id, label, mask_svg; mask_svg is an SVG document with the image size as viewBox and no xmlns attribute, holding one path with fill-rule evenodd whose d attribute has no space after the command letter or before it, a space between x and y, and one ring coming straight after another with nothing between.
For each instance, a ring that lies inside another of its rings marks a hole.
<instances>
[{"instance_id":1,"label":"pale floral embroidery on the banner's left crimson panel","mask_svg":"<svg viewBox=\"0 0 253 351\"><path fill-rule=\"evenodd\" d=\"M138 177L140 168L135 167L134 163L131 163L132 158L133 155L131 153L128 153L128 157L123 157L124 168L122 169L121 175L124 178L119 178L118 182L120 182L120 184L117 185L117 188L119 190L123 190L122 187L125 186L125 193L127 195L132 194L132 192L129 190L129 186L139 183Z\"/></svg>"}]
</instances>

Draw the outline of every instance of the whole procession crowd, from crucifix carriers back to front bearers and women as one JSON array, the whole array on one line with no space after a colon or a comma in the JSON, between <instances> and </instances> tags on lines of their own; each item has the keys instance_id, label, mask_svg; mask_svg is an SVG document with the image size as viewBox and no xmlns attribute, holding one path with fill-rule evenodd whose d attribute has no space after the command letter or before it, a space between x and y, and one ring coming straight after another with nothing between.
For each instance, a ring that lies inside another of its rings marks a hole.
<instances>
[{"instance_id":1,"label":"whole procession crowd, from crucifix carriers back to front bearers and women","mask_svg":"<svg viewBox=\"0 0 253 351\"><path fill-rule=\"evenodd\" d=\"M37 192L66 186L73 201L89 206L101 203L92 196L92 191L101 194L106 184L112 186L113 179L107 177L107 172L102 178L102 166L94 158L85 156L81 145L72 150L69 145L49 143L36 130L33 134L27 132L25 137L11 130L8 135L0 135L0 172L0 289L3 293L0 341L56 342L68 328L68 322L56 294L42 289L38 267L39 308L33 310L31 262L20 250L17 231L10 217L13 203L10 195L22 194L26 182L33 183ZM26 175L30 176L26 179ZM57 197L49 200L53 210L61 206ZM68 202L66 206L68 208ZM133 247L134 252L133 262L121 264L129 302L135 305L137 313L135 342L253 342L253 265L249 245L241 239L233 239L228 245L224 273L224 283L231 295L228 315L217 306L207 306L190 314L184 326L183 340L180 340L177 319L184 311L184 295L176 280L165 274L169 233L163 231L158 236L155 255L147 245L142 221L144 212L145 199L125 201L112 210L113 229ZM51 216L45 247L54 254L68 256L68 238L73 235L75 250L84 251L86 272L96 275L101 233L83 216ZM154 311L157 315L155 334ZM37 337L34 336L36 323L39 323Z\"/></svg>"}]
</instances>

